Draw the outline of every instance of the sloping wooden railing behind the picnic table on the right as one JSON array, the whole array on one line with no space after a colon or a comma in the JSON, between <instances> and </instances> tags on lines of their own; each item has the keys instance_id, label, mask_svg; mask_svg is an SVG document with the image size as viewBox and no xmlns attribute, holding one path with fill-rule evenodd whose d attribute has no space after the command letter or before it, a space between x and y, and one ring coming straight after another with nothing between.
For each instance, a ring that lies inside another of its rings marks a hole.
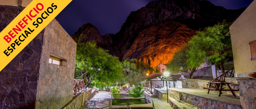
<instances>
[{"instance_id":1,"label":"sloping wooden railing behind the picnic table on the right","mask_svg":"<svg viewBox=\"0 0 256 109\"><path fill-rule=\"evenodd\" d=\"M228 71L226 71L225 73L219 75L217 78L215 78L214 80L212 80L211 82L225 82L225 78L231 78L231 77L234 77L234 67L229 69ZM207 84L207 86L209 85L209 83ZM209 88L216 88L218 86L213 86L214 84L211 85L211 87ZM215 85L218 85L218 84L215 84Z\"/></svg>"}]
</instances>

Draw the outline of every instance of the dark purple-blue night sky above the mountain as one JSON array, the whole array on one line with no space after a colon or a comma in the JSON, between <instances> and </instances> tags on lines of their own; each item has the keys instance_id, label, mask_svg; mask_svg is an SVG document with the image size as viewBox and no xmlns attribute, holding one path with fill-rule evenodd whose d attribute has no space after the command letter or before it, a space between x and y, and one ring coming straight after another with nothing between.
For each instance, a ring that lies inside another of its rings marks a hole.
<instances>
[{"instance_id":1,"label":"dark purple-blue night sky above the mountain","mask_svg":"<svg viewBox=\"0 0 256 109\"><path fill-rule=\"evenodd\" d=\"M101 33L116 34L132 11L156 0L73 0L56 17L57 21L72 36L83 24L91 23ZM249 6L253 0L209 0L227 9Z\"/></svg>"}]
</instances>

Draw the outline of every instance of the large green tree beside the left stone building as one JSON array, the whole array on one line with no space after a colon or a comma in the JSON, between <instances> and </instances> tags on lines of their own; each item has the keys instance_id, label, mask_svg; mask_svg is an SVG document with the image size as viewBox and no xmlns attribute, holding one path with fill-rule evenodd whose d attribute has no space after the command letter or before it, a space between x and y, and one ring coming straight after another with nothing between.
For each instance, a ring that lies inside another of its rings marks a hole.
<instances>
[{"instance_id":1,"label":"large green tree beside the left stone building","mask_svg":"<svg viewBox=\"0 0 256 109\"><path fill-rule=\"evenodd\" d=\"M95 79L114 83L123 78L122 72L118 58L98 48L95 42L77 43L75 77L86 80L86 88Z\"/></svg>"}]
</instances>

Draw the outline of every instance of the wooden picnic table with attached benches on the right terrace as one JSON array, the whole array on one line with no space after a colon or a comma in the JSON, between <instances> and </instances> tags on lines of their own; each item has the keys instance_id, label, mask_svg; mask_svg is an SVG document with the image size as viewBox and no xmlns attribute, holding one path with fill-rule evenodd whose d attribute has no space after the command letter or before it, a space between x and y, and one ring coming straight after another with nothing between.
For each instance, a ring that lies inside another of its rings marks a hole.
<instances>
[{"instance_id":1,"label":"wooden picnic table with attached benches on the right terrace","mask_svg":"<svg viewBox=\"0 0 256 109\"><path fill-rule=\"evenodd\" d=\"M222 94L221 91L230 91L233 94L233 96L236 97L234 91L239 91L239 89L233 89L233 88L230 87L229 84L232 84L232 83L227 83L227 82L208 82L208 83L209 83L208 87L202 87L204 89L207 89L207 94L209 94L210 90L219 91L218 96L220 97L220 95ZM212 84L215 84L216 88L211 88ZM228 88L223 88L222 87L225 84L228 86Z\"/></svg>"}]
</instances>

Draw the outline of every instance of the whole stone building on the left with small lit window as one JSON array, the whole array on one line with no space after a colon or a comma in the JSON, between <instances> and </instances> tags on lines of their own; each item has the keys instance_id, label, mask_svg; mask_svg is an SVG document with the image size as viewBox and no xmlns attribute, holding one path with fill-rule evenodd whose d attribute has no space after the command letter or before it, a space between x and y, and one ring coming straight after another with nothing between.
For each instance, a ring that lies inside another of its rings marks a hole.
<instances>
[{"instance_id":1,"label":"whole stone building on the left with small lit window","mask_svg":"<svg viewBox=\"0 0 256 109\"><path fill-rule=\"evenodd\" d=\"M0 5L0 32L24 9ZM76 42L52 20L1 72L0 109L60 109L73 99Z\"/></svg>"}]
</instances>

